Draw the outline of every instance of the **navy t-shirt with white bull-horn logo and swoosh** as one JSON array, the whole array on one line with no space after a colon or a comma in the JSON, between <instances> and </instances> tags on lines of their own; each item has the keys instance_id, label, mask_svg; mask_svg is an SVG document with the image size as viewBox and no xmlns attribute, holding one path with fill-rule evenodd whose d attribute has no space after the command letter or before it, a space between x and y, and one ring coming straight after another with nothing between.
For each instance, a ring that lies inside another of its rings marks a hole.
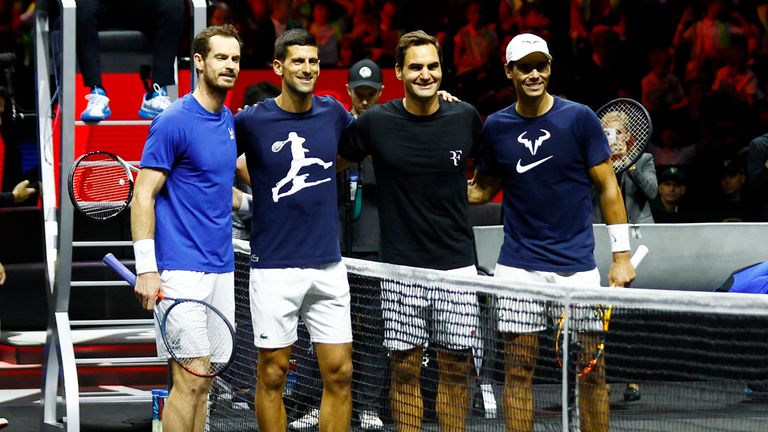
<instances>
[{"instance_id":1,"label":"navy t-shirt with white bull-horn logo and swoosh","mask_svg":"<svg viewBox=\"0 0 768 432\"><path fill-rule=\"evenodd\" d=\"M511 105L483 127L478 169L504 187L504 243L499 263L527 270L595 268L588 170L611 151L587 106L555 97L539 117Z\"/></svg>"}]
</instances>

